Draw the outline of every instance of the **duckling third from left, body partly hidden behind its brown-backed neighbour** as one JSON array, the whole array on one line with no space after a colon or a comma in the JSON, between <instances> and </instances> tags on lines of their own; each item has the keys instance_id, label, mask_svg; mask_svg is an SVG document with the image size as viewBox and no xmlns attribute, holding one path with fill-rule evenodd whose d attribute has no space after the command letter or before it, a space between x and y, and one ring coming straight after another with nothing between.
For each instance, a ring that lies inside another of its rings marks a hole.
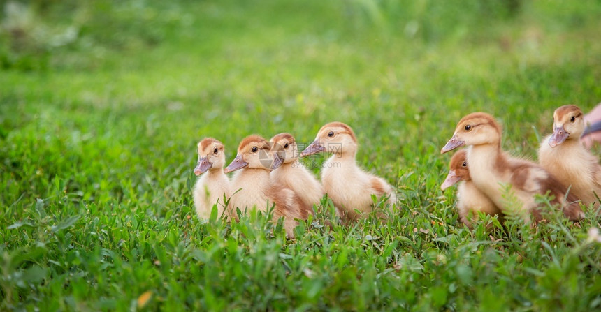
<instances>
[{"instance_id":1,"label":"duckling third from left, body partly hidden behind its brown-backed neighbour","mask_svg":"<svg viewBox=\"0 0 601 312\"><path fill-rule=\"evenodd\" d=\"M298 147L296 140L290 133L274 135L271 140L271 150L283 159L277 170L271 172L273 183L290 188L303 200L307 207L319 205L325 191L314 175L298 161Z\"/></svg>"}]
</instances>

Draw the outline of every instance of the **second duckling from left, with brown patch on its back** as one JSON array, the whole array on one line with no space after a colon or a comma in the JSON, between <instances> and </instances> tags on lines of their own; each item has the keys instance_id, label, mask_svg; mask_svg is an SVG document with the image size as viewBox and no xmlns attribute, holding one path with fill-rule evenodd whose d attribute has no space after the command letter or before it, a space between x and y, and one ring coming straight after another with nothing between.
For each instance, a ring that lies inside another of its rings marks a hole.
<instances>
[{"instance_id":1,"label":"second duckling from left, with brown patch on its back","mask_svg":"<svg viewBox=\"0 0 601 312\"><path fill-rule=\"evenodd\" d=\"M242 211L267 211L268 205L275 205L273 220L284 217L284 229L288 237L294 238L294 228L298 225L294 218L306 220L312 210L303 205L294 191L271 181L270 171L281 164L282 159L270 151L269 142L261 136L249 135L242 140L238 155L225 170L240 170L231 181L230 205Z\"/></svg>"}]
</instances>

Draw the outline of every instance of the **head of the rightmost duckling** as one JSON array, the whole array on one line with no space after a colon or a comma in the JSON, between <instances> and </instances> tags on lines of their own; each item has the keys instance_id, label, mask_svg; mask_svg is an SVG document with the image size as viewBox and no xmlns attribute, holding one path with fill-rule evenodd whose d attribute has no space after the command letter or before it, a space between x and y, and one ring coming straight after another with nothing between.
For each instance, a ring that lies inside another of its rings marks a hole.
<instances>
[{"instance_id":1,"label":"head of the rightmost duckling","mask_svg":"<svg viewBox=\"0 0 601 312\"><path fill-rule=\"evenodd\" d=\"M553 112L553 134L549 146L556 147L565 140L578 140L584 132L582 110L576 105L563 105Z\"/></svg>"}]
</instances>

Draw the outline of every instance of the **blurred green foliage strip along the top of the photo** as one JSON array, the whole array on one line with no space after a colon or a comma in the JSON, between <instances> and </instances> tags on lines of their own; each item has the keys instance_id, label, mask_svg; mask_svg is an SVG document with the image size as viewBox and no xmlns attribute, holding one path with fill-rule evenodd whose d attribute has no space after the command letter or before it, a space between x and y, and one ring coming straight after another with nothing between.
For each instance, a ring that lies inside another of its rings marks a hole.
<instances>
[{"instance_id":1,"label":"blurred green foliage strip along the top of the photo","mask_svg":"<svg viewBox=\"0 0 601 312\"><path fill-rule=\"evenodd\" d=\"M597 20L599 14L591 13L601 13L596 0L578 1L577 5L523 0L219 2L219 6L229 10L217 10L211 1L199 6L186 0L0 1L0 68L56 69L68 59L64 55L72 56L71 52L85 52L85 56L78 56L80 59L101 59L108 52L143 50L160 45L164 40L185 44L190 39L203 40L210 36L198 37L196 33L186 37L187 32L191 34L198 29L202 33L203 29L215 27L231 27L233 31L252 28L252 21L259 19L270 20L273 27L297 23L301 31L331 31L338 40L363 36L438 43L499 37L505 31L504 23L516 20L534 20L534 24L547 28L579 27ZM190 11L191 8L196 11ZM263 8L291 14L265 15L270 10ZM317 11L322 14L325 11L331 19L326 24L313 24L310 13ZM228 22L240 20L237 17L241 16L245 17L243 22ZM81 65L74 67L81 68Z\"/></svg>"}]
</instances>

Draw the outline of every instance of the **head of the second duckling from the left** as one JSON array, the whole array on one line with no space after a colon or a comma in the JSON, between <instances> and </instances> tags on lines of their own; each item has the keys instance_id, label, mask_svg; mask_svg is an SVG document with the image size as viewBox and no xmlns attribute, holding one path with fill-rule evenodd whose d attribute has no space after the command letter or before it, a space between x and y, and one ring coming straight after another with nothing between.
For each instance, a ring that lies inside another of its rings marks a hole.
<instances>
[{"instance_id":1,"label":"head of the second duckling from the left","mask_svg":"<svg viewBox=\"0 0 601 312\"><path fill-rule=\"evenodd\" d=\"M282 159L270 151L267 140L259 135L249 135L238 146L236 158L224 172L232 172L242 168L273 170L282 165Z\"/></svg>"}]
</instances>

